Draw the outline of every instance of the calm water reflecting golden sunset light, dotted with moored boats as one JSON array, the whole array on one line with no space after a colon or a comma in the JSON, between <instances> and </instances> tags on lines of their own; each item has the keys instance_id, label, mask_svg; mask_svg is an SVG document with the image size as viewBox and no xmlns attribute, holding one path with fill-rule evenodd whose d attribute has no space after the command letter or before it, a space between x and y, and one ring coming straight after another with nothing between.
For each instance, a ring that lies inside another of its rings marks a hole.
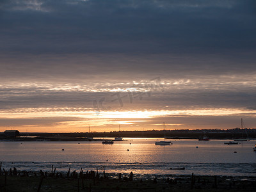
<instances>
[{"instance_id":1,"label":"calm water reflecting golden sunset light, dotted with moored boats","mask_svg":"<svg viewBox=\"0 0 256 192\"><path fill-rule=\"evenodd\" d=\"M234 175L256 176L256 141L224 145L224 140L171 140L173 145L155 145L152 138L124 138L113 145L101 141L0 142L3 168L58 172L95 170L105 166L108 173L154 175ZM78 144L80 143L80 144ZM130 144L131 143L131 144ZM198 146L198 148L196 148ZM61 149L65 150L62 151ZM127 151L129 149L129 151ZM237 153L234 153L236 151ZM185 167L185 170L170 168Z\"/></svg>"}]
</instances>

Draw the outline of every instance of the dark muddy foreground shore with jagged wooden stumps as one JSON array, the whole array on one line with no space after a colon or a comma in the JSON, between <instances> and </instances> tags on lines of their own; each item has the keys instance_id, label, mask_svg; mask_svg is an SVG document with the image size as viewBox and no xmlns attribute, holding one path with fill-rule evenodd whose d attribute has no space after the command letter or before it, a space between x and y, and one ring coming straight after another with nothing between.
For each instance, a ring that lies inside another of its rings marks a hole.
<instances>
[{"instance_id":1,"label":"dark muddy foreground shore with jagged wooden stumps","mask_svg":"<svg viewBox=\"0 0 256 192\"><path fill-rule=\"evenodd\" d=\"M166 179L132 179L95 172L71 174L2 172L1 191L255 191L256 177L168 175ZM163 178L163 177L162 177Z\"/></svg>"}]
</instances>

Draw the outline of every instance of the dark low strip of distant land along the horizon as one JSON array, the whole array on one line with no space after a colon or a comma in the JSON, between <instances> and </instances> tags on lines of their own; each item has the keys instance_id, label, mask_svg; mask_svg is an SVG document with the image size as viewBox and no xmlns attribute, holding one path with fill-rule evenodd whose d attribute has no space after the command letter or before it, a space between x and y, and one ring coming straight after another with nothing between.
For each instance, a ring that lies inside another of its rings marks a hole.
<instances>
[{"instance_id":1,"label":"dark low strip of distant land along the horizon","mask_svg":"<svg viewBox=\"0 0 256 192\"><path fill-rule=\"evenodd\" d=\"M199 139L207 136L210 140L233 140L241 138L256 139L256 129L180 129L180 130L151 130L151 131L114 131L114 132L20 132L19 138L8 138L4 132L0 132L0 141L91 141L91 138L170 138L179 139ZM248 135L248 136L247 136Z\"/></svg>"}]
</instances>

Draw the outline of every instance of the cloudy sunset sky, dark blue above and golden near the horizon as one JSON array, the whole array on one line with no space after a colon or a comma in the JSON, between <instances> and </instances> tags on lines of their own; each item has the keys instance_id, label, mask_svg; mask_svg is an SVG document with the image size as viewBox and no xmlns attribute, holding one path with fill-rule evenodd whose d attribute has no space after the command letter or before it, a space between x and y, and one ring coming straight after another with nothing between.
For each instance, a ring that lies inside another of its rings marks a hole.
<instances>
[{"instance_id":1,"label":"cloudy sunset sky, dark blue above and golden near the horizon","mask_svg":"<svg viewBox=\"0 0 256 192\"><path fill-rule=\"evenodd\" d=\"M256 2L0 1L0 131L256 128Z\"/></svg>"}]
</instances>

